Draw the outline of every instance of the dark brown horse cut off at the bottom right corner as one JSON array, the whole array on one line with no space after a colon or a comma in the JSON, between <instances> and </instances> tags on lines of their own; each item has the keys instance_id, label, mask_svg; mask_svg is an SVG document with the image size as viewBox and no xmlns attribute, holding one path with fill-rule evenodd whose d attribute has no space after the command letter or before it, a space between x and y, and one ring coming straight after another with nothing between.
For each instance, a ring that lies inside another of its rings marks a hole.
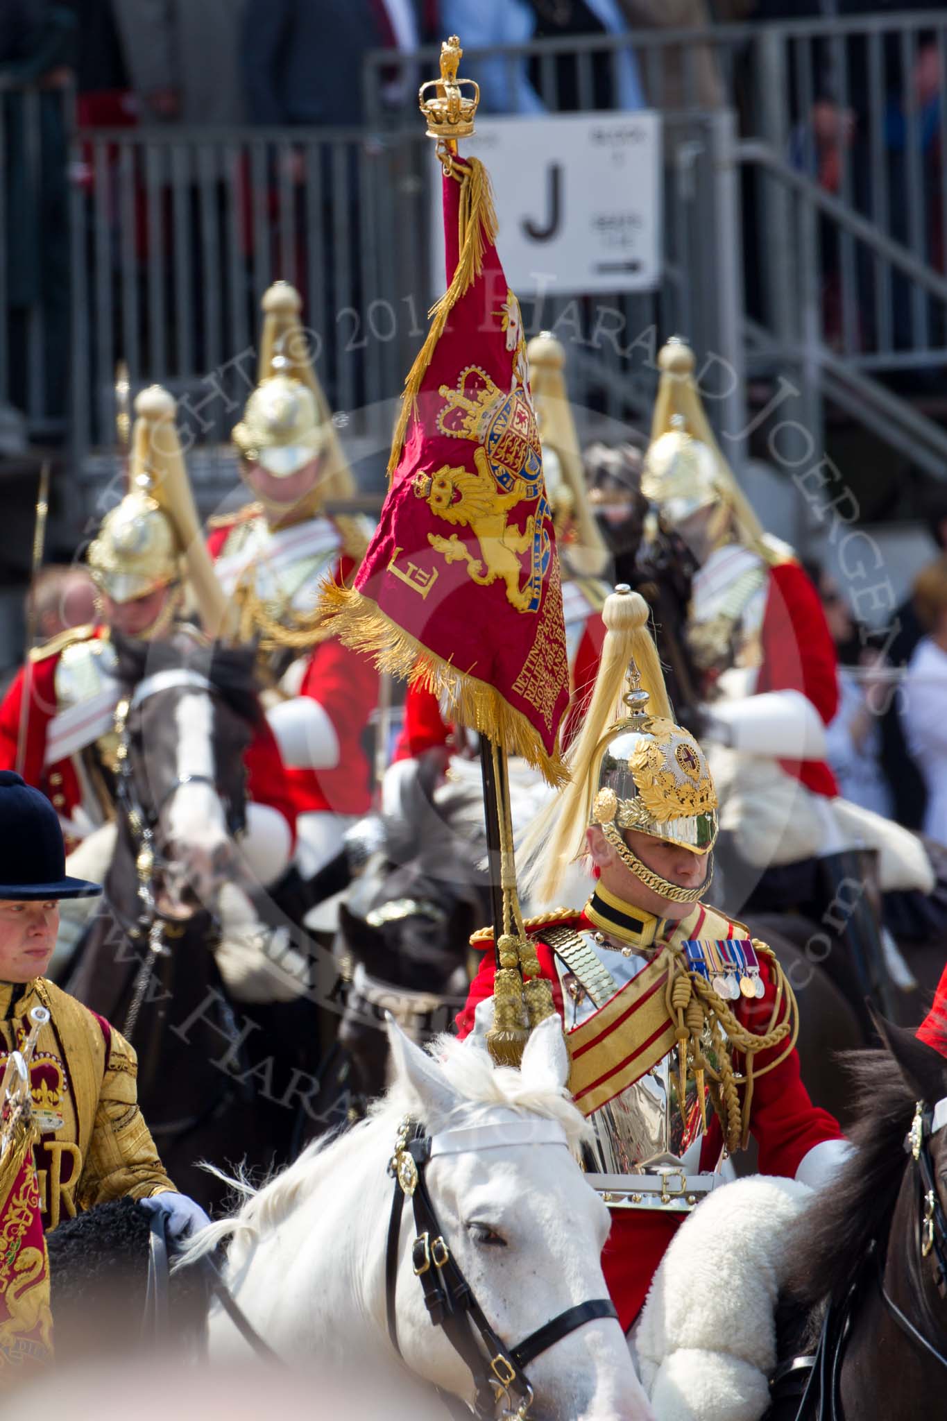
<instances>
[{"instance_id":1,"label":"dark brown horse cut off at the bottom right corner","mask_svg":"<svg viewBox=\"0 0 947 1421\"><path fill-rule=\"evenodd\" d=\"M913 1032L880 1030L885 1049L850 1061L856 1152L797 1225L779 1350L818 1349L816 1367L779 1368L770 1421L944 1411L947 1060Z\"/></svg>"}]
</instances>

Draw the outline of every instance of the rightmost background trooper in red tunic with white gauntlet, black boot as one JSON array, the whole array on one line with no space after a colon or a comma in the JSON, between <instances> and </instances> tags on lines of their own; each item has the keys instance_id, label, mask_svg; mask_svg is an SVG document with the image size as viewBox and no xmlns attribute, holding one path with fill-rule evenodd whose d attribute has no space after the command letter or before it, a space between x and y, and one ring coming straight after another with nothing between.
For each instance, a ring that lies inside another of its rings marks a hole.
<instances>
[{"instance_id":1,"label":"rightmost background trooper in red tunic with white gauntlet, black boot","mask_svg":"<svg viewBox=\"0 0 947 1421\"><path fill-rule=\"evenodd\" d=\"M885 871L897 865L883 888L930 892L930 867L903 830L838 797L825 760L838 671L818 593L740 490L704 414L690 348L674 338L659 364L642 492L699 564L684 635L703 674L727 895L828 925L843 942L828 971L842 971L839 986L856 1009L870 996L890 1013L896 949L880 936L858 850L877 848Z\"/></svg>"}]
</instances>

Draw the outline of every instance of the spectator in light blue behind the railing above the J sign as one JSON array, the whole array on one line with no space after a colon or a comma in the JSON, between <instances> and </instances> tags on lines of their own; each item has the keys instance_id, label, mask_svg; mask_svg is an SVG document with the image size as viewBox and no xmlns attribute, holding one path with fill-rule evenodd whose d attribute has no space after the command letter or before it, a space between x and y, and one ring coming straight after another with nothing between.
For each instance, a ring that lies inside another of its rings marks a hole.
<instances>
[{"instance_id":1,"label":"spectator in light blue behind the railing above the J sign","mask_svg":"<svg viewBox=\"0 0 947 1421\"><path fill-rule=\"evenodd\" d=\"M440 0L440 14L444 30L459 34L464 50L595 34L605 40L629 30L620 0ZM547 68L540 60L496 58L469 61L464 72L480 84L486 114L645 108L637 61L629 45L592 50L588 63L588 95L582 61L574 53L557 54Z\"/></svg>"}]
</instances>

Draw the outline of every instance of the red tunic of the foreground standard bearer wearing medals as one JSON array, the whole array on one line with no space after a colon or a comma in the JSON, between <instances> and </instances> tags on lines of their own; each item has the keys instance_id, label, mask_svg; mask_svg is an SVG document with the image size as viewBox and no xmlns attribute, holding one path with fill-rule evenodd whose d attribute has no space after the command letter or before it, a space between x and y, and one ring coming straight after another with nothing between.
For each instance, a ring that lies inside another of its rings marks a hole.
<instances>
[{"instance_id":1,"label":"red tunic of the foreground standard bearer wearing medals","mask_svg":"<svg viewBox=\"0 0 947 1421\"><path fill-rule=\"evenodd\" d=\"M691 929L694 936L700 935L700 921ZM593 924L582 915L576 915L574 925L579 929L595 931ZM740 936L743 929L733 929L731 935ZM551 948L540 942L538 956L542 976L552 982L555 1007L562 1015L562 993ZM464 1037L473 1030L477 1003L493 993L493 975L494 952L493 944L490 944L483 955L480 971L471 982L467 1005L457 1016L459 1036ZM765 965L761 966L761 975L767 980L767 995L762 1000L747 1002L745 998L741 998L740 1006L735 1007L741 1022L750 1030L761 1030L772 1010L772 986ZM762 1023L758 1017L764 1019ZM775 1053L778 1050L779 1047L774 1047ZM755 1059L757 1064L764 1066L771 1056L772 1052L761 1052ZM760 1150L760 1172L784 1175L789 1179L795 1177L809 1150L823 1140L842 1138L842 1131L832 1115L816 1108L809 1100L809 1093L802 1084L799 1057L795 1050L775 1070L755 1083L750 1128ZM714 1115L708 1121L701 1147L701 1169L713 1169L714 1162L720 1158L721 1147L720 1123ZM664 1256L664 1249L681 1222L681 1215L660 1214L656 1209L616 1209L612 1214L612 1232L602 1253L602 1270L625 1331L637 1317L657 1265Z\"/></svg>"}]
</instances>

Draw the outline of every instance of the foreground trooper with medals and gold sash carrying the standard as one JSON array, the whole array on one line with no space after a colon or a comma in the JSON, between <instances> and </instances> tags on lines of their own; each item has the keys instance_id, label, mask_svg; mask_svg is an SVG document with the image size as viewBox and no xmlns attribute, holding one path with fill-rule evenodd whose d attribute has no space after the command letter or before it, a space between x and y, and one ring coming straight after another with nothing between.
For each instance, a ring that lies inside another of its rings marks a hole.
<instances>
[{"instance_id":1,"label":"foreground trooper with medals and gold sash carrying the standard","mask_svg":"<svg viewBox=\"0 0 947 1421\"><path fill-rule=\"evenodd\" d=\"M703 901L717 796L703 750L672 719L647 617L628 587L608 598L572 780L527 845L540 901L554 901L576 858L598 875L582 911L551 909L527 932L595 1131L588 1179L612 1211L602 1265L625 1329L676 1228L750 1134L761 1172L812 1185L848 1150L802 1084L795 999L775 955ZM473 944L486 951L461 1034L494 985L491 931Z\"/></svg>"}]
</instances>

